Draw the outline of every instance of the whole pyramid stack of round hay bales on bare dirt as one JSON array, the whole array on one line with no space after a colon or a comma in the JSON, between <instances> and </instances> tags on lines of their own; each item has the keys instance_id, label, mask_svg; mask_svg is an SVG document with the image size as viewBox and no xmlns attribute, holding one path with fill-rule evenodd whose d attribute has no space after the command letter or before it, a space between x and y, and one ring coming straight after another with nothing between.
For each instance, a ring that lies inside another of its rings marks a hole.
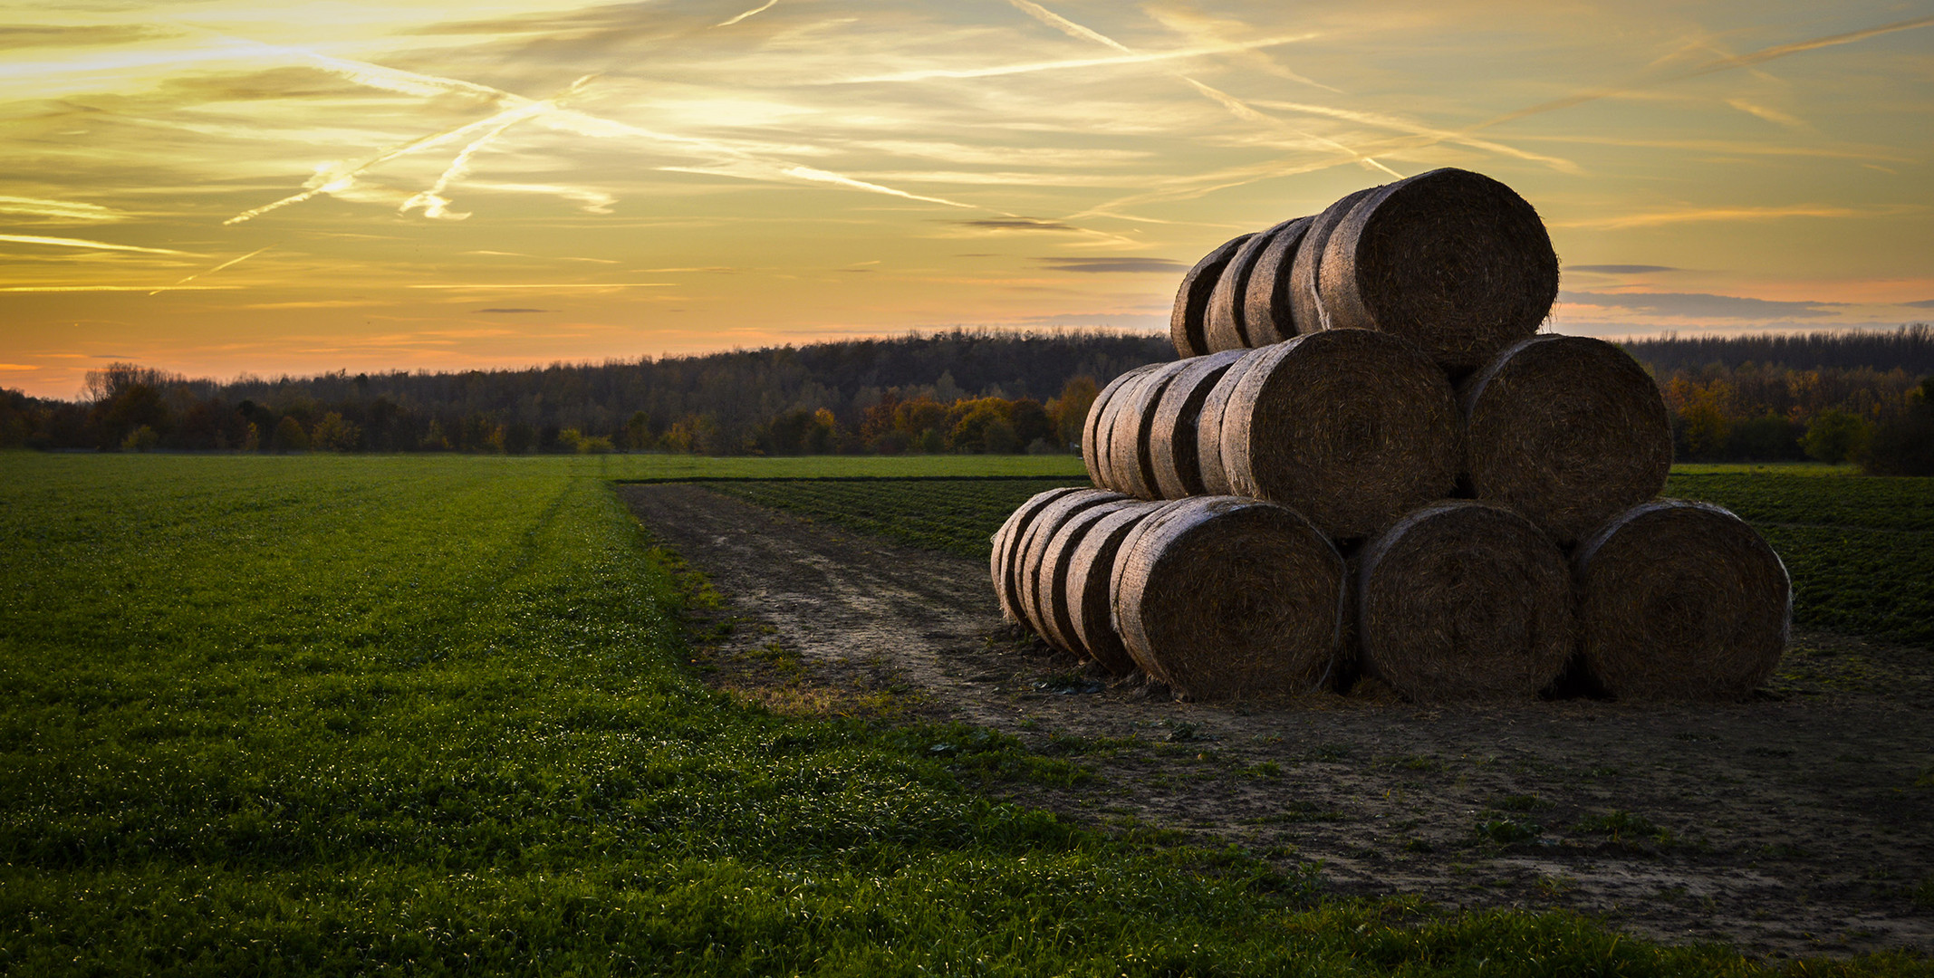
<instances>
[{"instance_id":1,"label":"whole pyramid stack of round hay bales on bare dirt","mask_svg":"<svg viewBox=\"0 0 1934 978\"><path fill-rule=\"evenodd\" d=\"M1182 696L1743 698L1791 588L1737 516L1657 501L1671 429L1613 344L1538 334L1559 263L1510 187L1431 170L1234 238L1182 360L1097 398L1099 489L996 533L1010 618Z\"/></svg>"}]
</instances>

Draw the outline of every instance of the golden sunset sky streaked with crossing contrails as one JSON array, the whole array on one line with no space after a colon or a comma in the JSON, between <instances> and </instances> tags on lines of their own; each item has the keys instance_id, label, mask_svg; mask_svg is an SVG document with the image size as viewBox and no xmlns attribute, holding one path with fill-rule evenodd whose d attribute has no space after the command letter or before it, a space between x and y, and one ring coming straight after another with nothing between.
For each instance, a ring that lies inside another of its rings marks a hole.
<instances>
[{"instance_id":1,"label":"golden sunset sky streaked with crossing contrails","mask_svg":"<svg viewBox=\"0 0 1934 978\"><path fill-rule=\"evenodd\" d=\"M1166 329L1226 238L1510 184L1553 327L1934 315L1934 4L15 2L0 387Z\"/></svg>"}]
</instances>

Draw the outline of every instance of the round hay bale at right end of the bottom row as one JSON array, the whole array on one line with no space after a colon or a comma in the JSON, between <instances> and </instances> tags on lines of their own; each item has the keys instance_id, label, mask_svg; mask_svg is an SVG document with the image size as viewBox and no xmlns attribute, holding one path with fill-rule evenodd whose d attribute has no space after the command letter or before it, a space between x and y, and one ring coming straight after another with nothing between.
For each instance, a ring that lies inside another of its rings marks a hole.
<instances>
[{"instance_id":1,"label":"round hay bale at right end of the bottom row","mask_svg":"<svg viewBox=\"0 0 1934 978\"><path fill-rule=\"evenodd\" d=\"M1656 499L1572 555L1580 665L1619 700L1744 700L1779 665L1793 584L1744 520Z\"/></svg>"}]
</instances>

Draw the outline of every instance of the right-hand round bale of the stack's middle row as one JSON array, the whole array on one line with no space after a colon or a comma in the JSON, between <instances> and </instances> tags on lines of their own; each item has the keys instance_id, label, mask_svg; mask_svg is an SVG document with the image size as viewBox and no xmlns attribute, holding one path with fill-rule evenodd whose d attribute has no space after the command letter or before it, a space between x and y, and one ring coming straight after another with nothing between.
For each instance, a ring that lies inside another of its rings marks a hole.
<instances>
[{"instance_id":1,"label":"right-hand round bale of the stack's middle row","mask_svg":"<svg viewBox=\"0 0 1934 978\"><path fill-rule=\"evenodd\" d=\"M1665 489L1673 429L1659 385L1590 336L1534 336L1464 383L1466 474L1563 547Z\"/></svg>"}]
</instances>

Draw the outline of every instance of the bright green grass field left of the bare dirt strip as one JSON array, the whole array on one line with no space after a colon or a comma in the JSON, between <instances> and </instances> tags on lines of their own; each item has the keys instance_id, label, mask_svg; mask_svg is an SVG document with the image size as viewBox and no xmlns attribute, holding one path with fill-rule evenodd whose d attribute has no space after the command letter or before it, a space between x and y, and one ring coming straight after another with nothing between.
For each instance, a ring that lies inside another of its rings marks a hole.
<instances>
[{"instance_id":1,"label":"bright green grass field left of the bare dirt strip","mask_svg":"<svg viewBox=\"0 0 1934 978\"><path fill-rule=\"evenodd\" d=\"M0 454L0 970L1934 972L1325 901L992 804L940 731L710 692L609 491L932 468L1070 470Z\"/></svg>"}]
</instances>

